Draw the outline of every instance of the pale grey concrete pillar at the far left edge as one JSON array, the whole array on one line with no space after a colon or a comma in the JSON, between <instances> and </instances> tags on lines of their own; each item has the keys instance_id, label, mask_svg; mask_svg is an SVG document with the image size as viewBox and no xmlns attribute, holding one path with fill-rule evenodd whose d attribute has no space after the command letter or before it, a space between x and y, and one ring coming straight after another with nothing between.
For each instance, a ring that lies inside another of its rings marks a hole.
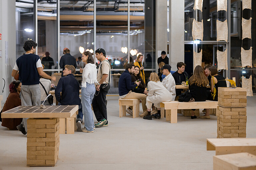
<instances>
[{"instance_id":1,"label":"pale grey concrete pillar at the far left edge","mask_svg":"<svg viewBox=\"0 0 256 170\"><path fill-rule=\"evenodd\" d=\"M5 102L9 94L9 84L14 80L11 76L12 69L16 61L16 28L15 28L15 1L0 0L0 50L2 57L0 58L0 95L3 95ZM5 80L4 92L3 85Z\"/></svg>"}]
</instances>

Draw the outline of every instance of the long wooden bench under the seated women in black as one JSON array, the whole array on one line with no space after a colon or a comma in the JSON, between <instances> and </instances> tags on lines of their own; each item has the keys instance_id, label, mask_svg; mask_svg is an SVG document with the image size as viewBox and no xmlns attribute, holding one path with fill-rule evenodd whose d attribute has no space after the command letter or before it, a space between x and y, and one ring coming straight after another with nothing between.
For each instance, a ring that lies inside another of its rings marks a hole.
<instances>
[{"instance_id":1,"label":"long wooden bench under the seated women in black","mask_svg":"<svg viewBox=\"0 0 256 170\"><path fill-rule=\"evenodd\" d=\"M161 118L164 117L164 110L166 111L166 121L171 123L177 123L177 110L178 109L216 109L218 106L217 101L206 100L204 102L162 102L161 107Z\"/></svg>"}]
</instances>

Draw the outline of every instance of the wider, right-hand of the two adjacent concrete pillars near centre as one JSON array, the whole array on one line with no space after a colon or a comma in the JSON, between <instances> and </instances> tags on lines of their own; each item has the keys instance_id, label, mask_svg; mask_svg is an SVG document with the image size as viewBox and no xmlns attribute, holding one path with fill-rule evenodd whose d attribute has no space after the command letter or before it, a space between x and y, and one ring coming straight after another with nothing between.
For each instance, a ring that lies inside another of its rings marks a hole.
<instances>
[{"instance_id":1,"label":"wider, right-hand of the two adjacent concrete pillars near centre","mask_svg":"<svg viewBox=\"0 0 256 170\"><path fill-rule=\"evenodd\" d=\"M184 62L184 0L169 0L169 29L169 64L176 71Z\"/></svg>"}]
</instances>

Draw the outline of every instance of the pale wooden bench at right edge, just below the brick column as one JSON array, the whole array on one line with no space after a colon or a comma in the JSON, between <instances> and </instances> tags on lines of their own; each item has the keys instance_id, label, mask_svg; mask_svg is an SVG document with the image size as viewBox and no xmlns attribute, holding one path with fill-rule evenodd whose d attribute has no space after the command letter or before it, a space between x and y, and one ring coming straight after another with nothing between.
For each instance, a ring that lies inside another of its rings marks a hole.
<instances>
[{"instance_id":1,"label":"pale wooden bench at right edge, just below the brick column","mask_svg":"<svg viewBox=\"0 0 256 170\"><path fill-rule=\"evenodd\" d=\"M216 155L248 152L256 155L256 138L212 138L207 139L207 150Z\"/></svg>"}]
</instances>

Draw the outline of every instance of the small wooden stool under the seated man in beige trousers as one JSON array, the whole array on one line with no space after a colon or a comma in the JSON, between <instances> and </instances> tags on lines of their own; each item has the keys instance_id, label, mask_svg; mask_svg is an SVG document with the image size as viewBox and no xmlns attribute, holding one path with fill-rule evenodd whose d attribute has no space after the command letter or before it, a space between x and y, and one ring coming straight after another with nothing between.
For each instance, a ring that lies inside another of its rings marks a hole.
<instances>
[{"instance_id":1,"label":"small wooden stool under the seated man in beige trousers","mask_svg":"<svg viewBox=\"0 0 256 170\"><path fill-rule=\"evenodd\" d=\"M140 116L140 100L139 99L119 99L119 118L126 116L126 106L132 106L132 118Z\"/></svg>"}]
</instances>

